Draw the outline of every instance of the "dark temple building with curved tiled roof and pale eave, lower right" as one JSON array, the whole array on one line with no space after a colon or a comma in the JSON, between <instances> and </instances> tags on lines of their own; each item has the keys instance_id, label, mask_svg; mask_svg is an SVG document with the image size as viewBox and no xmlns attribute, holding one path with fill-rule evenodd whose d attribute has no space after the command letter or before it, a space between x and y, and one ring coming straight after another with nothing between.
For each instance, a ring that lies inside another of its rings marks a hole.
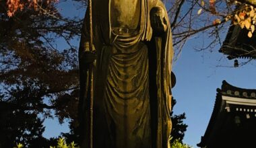
<instances>
[{"instance_id":1,"label":"dark temple building with curved tiled roof and pale eave, lower right","mask_svg":"<svg viewBox=\"0 0 256 148\"><path fill-rule=\"evenodd\" d=\"M256 147L256 89L222 82L201 148Z\"/></svg>"}]
</instances>

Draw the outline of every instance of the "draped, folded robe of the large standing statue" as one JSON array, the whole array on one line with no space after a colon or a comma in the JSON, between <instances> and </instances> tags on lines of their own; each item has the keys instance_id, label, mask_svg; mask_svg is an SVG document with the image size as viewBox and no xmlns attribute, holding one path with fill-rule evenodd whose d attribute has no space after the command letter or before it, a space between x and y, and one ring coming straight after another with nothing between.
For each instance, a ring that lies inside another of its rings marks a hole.
<instances>
[{"instance_id":1,"label":"draped, folded robe of the large standing statue","mask_svg":"<svg viewBox=\"0 0 256 148\"><path fill-rule=\"evenodd\" d=\"M92 1L94 75L94 147L169 147L171 121L172 36L170 24L154 36L152 7L160 0ZM88 147L88 72L82 57L89 42L86 12L79 46L82 147Z\"/></svg>"}]
</instances>

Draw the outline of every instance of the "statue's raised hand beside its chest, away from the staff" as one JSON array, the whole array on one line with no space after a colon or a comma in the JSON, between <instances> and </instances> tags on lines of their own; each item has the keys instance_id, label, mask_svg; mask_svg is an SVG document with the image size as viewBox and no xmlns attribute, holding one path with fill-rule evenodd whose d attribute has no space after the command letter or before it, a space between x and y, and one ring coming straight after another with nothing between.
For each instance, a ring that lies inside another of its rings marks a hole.
<instances>
[{"instance_id":1,"label":"statue's raised hand beside its chest, away from the staff","mask_svg":"<svg viewBox=\"0 0 256 148\"><path fill-rule=\"evenodd\" d=\"M153 7L150 11L150 23L156 34L162 34L167 30L165 12L162 7Z\"/></svg>"}]
</instances>

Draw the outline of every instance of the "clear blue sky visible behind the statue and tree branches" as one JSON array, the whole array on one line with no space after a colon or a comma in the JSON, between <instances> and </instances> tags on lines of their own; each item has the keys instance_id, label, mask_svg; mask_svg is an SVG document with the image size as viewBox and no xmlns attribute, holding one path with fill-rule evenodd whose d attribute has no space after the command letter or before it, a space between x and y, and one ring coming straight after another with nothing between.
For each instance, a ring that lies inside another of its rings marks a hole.
<instances>
[{"instance_id":1,"label":"clear blue sky visible behind the statue and tree branches","mask_svg":"<svg viewBox=\"0 0 256 148\"><path fill-rule=\"evenodd\" d=\"M60 5L65 15L84 16L84 11L70 10L73 3ZM193 147L196 147L204 135L216 99L216 89L221 87L223 80L237 87L256 89L254 61L243 67L232 68L234 61L228 61L218 52L220 46L216 46L213 52L196 52L194 48L199 46L201 40L202 38L190 39L183 47L179 59L173 63L173 71L177 77L177 84L172 89L177 100L174 114L186 113L185 123L188 128L183 141ZM44 137L47 138L69 131L67 122L60 125L57 120L46 119L44 125Z\"/></svg>"}]
</instances>

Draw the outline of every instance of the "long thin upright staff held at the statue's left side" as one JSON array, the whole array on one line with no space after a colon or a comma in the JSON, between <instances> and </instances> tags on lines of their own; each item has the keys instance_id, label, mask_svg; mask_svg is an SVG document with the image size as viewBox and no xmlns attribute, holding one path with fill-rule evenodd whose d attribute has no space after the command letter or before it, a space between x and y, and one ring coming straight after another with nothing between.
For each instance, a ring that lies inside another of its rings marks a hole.
<instances>
[{"instance_id":1,"label":"long thin upright staff held at the statue's left side","mask_svg":"<svg viewBox=\"0 0 256 148\"><path fill-rule=\"evenodd\" d=\"M92 44L92 0L89 0L89 15L90 15L90 42L89 42L89 48L90 48L90 52L94 52L93 51L93 44ZM89 124L89 133L90 133L90 148L92 148L92 139L93 139L93 107L94 107L94 65L95 62L90 64L90 69L89 69L89 80L90 80L90 124Z\"/></svg>"}]
</instances>

